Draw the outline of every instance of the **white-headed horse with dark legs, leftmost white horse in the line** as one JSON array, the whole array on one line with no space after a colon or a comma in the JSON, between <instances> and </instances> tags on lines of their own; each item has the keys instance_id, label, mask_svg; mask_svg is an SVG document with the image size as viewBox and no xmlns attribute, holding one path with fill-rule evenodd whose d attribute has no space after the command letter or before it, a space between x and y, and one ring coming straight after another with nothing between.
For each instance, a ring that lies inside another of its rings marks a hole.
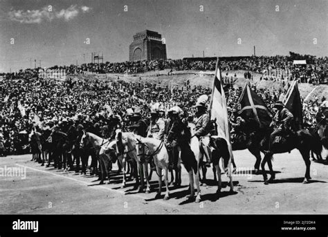
<instances>
[{"instance_id":1,"label":"white-headed horse with dark legs, leftmost white horse in the line","mask_svg":"<svg viewBox=\"0 0 328 237\"><path fill-rule=\"evenodd\" d=\"M109 148L113 146L113 143L115 141L109 141L104 138L100 138L98 135L95 135L93 133L89 133L86 131L82 131L82 137L80 140L80 148L81 149L90 149L92 147L95 149L95 155L97 155L98 160L100 162L100 169L101 169L101 176L100 176L100 184L104 184L104 179L107 177L108 182L110 181L109 171L111 171L111 164L112 159L116 158L116 155L110 151L107 155L107 149L106 144L109 145ZM111 149L113 150L113 149Z\"/></svg>"}]
</instances>

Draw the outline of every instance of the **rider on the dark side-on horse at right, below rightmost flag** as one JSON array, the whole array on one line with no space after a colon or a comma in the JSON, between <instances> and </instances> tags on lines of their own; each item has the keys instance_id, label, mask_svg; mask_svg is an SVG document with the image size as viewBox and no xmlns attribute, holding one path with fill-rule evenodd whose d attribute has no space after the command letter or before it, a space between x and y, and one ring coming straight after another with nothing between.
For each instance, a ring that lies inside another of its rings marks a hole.
<instances>
[{"instance_id":1,"label":"rider on the dark side-on horse at right, below rightmost flag","mask_svg":"<svg viewBox=\"0 0 328 237\"><path fill-rule=\"evenodd\" d=\"M284 108L284 104L280 101L273 106L274 117L274 131L270 135L270 144L277 135L289 135L293 133L293 114L288 108Z\"/></svg>"}]
</instances>

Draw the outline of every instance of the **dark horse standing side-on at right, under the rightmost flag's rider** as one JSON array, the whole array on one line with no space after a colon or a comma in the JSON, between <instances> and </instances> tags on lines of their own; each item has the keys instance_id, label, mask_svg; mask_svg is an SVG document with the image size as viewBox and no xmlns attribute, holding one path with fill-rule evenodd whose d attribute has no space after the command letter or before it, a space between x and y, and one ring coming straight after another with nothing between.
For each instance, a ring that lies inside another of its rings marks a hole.
<instances>
[{"instance_id":1,"label":"dark horse standing side-on at right, under the rightmost flag's rider","mask_svg":"<svg viewBox=\"0 0 328 237\"><path fill-rule=\"evenodd\" d=\"M299 131L282 137L282 134L276 135L275 139L270 140L271 131L268 131L266 137L260 142L260 149L265 153L261 163L262 175L264 178L264 184L268 184L275 179L275 173L273 172L271 159L273 154L290 152L293 149L298 149L302 155L302 158L306 165L306 171L303 183L308 183L311 180L310 176L310 151L318 151L321 144L316 142L313 135L306 129L300 129ZM279 141L280 140L280 141ZM265 171L265 164L268 163L268 168L271 173L271 178L268 179Z\"/></svg>"}]
</instances>

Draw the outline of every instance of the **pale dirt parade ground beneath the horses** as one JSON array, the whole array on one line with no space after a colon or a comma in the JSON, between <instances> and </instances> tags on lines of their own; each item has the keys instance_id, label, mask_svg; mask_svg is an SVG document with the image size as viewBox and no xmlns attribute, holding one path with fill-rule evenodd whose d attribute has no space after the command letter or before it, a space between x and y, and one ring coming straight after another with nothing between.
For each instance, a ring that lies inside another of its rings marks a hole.
<instances>
[{"instance_id":1,"label":"pale dirt parade ground beneath the horses","mask_svg":"<svg viewBox=\"0 0 328 237\"><path fill-rule=\"evenodd\" d=\"M234 151L239 172L234 191L225 187L218 197L212 169L201 187L202 201L187 202L188 174L183 168L182 187L170 186L170 199L154 199L158 187L152 176L152 192L137 193L133 183L120 188L122 176L99 185L97 177L41 167L31 155L0 158L1 214L327 214L327 165L311 161L309 184L302 184L304 161L297 150L275 155L276 180L265 185L262 176L240 171L253 169L255 158L248 151ZM10 173L13 168L21 173ZM113 167L115 171L117 167ZM228 178L223 176L224 184ZM164 192L162 198L164 196Z\"/></svg>"}]
</instances>

